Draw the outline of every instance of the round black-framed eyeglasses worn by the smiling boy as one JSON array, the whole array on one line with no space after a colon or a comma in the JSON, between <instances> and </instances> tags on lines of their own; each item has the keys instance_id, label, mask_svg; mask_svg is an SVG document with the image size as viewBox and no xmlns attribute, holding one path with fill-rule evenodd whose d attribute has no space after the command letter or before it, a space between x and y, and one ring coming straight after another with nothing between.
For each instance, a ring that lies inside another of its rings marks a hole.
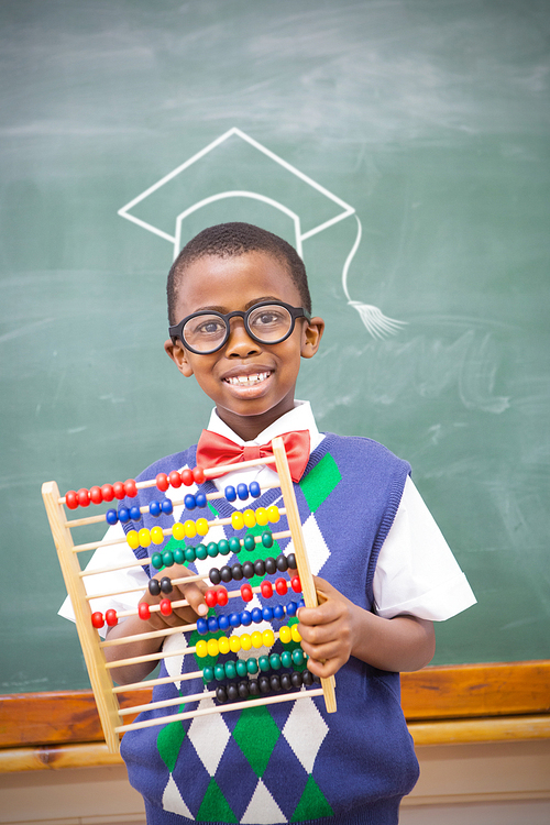
<instances>
[{"instance_id":1,"label":"round black-framed eyeglasses worn by the smiling boy","mask_svg":"<svg viewBox=\"0 0 550 825\"><path fill-rule=\"evenodd\" d=\"M283 301L262 301L254 304L245 312L215 312L201 309L170 327L169 337L197 355L209 355L227 343L231 328L231 318L242 318L244 329L257 343L280 343L292 334L297 318L311 320L311 315L302 307L290 307Z\"/></svg>"}]
</instances>

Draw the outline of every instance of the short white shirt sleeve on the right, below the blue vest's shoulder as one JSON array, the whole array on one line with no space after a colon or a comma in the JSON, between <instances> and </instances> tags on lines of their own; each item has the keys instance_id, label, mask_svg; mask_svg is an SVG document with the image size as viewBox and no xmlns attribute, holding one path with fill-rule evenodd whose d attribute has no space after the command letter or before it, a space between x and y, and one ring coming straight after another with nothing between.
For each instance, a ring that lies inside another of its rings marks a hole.
<instances>
[{"instance_id":1,"label":"short white shirt sleeve on the right, below the blue vest's shoulder","mask_svg":"<svg viewBox=\"0 0 550 825\"><path fill-rule=\"evenodd\" d=\"M476 603L470 584L413 481L407 479L373 581L378 616L431 622Z\"/></svg>"}]
</instances>

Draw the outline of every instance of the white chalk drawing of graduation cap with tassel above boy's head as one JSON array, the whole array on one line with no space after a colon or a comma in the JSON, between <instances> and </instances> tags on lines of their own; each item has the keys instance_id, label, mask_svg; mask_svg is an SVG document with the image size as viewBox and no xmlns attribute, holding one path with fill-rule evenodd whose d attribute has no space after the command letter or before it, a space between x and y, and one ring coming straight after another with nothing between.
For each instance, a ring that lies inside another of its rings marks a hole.
<instances>
[{"instance_id":1,"label":"white chalk drawing of graduation cap with tassel above boy's head","mask_svg":"<svg viewBox=\"0 0 550 825\"><path fill-rule=\"evenodd\" d=\"M277 174L273 174L274 164L278 166ZM252 206L253 220L234 217L238 200L246 202L249 213ZM226 212L220 212L220 207ZM265 210L271 213L268 219ZM358 310L373 338L395 334L406 323L350 297L348 272L362 234L355 209L235 127L138 195L118 213L170 243L174 258L200 229L229 220L244 220L283 237L290 235L286 240L302 257L304 241L352 218L356 235L342 270L342 288L349 306ZM274 215L276 229L272 228ZM286 233L282 226L286 226Z\"/></svg>"}]
</instances>

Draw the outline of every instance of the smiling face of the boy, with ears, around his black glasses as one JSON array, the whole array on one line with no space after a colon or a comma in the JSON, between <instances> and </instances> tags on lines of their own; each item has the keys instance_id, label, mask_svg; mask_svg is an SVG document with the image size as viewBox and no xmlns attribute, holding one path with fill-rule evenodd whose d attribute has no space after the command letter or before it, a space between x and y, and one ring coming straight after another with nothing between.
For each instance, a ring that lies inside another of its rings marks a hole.
<instances>
[{"instance_id":1,"label":"smiling face of the boy, with ears, around his black glasses","mask_svg":"<svg viewBox=\"0 0 550 825\"><path fill-rule=\"evenodd\" d=\"M264 300L300 307L299 292L286 267L266 252L221 258L207 256L186 267L179 283L176 320L200 309L245 311ZM232 318L227 343L217 352L198 355L180 341L166 341L165 350L183 375L195 375L215 402L220 418L244 440L255 438L294 407L300 358L312 358L324 323L320 318L297 318L285 341L257 343L243 320ZM239 377L246 376L245 385Z\"/></svg>"}]
</instances>

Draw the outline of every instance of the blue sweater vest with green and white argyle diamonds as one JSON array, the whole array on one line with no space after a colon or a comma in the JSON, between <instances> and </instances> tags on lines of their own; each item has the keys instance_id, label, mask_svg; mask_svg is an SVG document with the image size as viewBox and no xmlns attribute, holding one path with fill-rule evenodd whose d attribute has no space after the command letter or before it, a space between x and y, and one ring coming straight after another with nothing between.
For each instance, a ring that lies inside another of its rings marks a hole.
<instances>
[{"instance_id":1,"label":"blue sweater vest with green and white argyle diamonds","mask_svg":"<svg viewBox=\"0 0 550 825\"><path fill-rule=\"evenodd\" d=\"M142 473L139 481L154 479L158 472L193 468L195 454L195 448L190 448L162 459ZM370 439L329 433L311 454L300 484L295 485L312 572L367 610L373 609L377 557L395 518L409 470L406 462ZM215 490L211 482L202 485L205 493ZM160 495L156 487L141 491L139 504L146 505ZM279 490L266 491L252 506L280 504L279 497ZM199 515L211 520L217 515L229 517L233 513L226 498L212 504L206 510L182 514L176 510L174 515L184 521ZM174 516L160 519L144 516L144 525L128 525L125 529L154 524L166 528L173 522ZM253 528L251 532L262 529ZM273 526L274 532L279 529L286 529L284 517ZM224 532L227 538L235 535L231 527L224 528ZM220 538L221 532L216 540ZM197 544L199 540L187 540L187 544ZM277 556L288 541L279 540L279 546L270 550L257 544L256 552L249 558ZM170 542L174 547L174 539ZM138 558L147 556L142 548L135 552ZM239 558L208 558L190 568L206 573L212 566L231 565L245 558L246 551L242 550ZM144 568L150 575L155 572L148 564ZM252 585L258 583L260 579L251 580ZM232 582L227 587L237 588L240 584ZM283 601L293 598L297 598L294 593ZM270 604L262 596L258 601L262 607ZM235 608L235 603L241 607ZM230 600L227 607L212 608L219 615L235 609L242 609L240 600ZM288 618L272 622L275 630L282 624L288 624ZM265 626L256 627L263 630ZM189 645L201 638L196 632L187 637ZM167 648L180 650L185 638L176 636L165 642L165 652ZM273 651L280 649L277 641ZM245 656L257 657L263 652L252 649ZM234 659L235 654L219 656L220 661L228 658ZM213 661L195 654L169 657L163 661L160 675L197 671L207 663ZM400 708L399 675L375 670L352 657L336 680L334 714L326 713L322 697L260 708L246 708L244 702L240 712L165 723L125 734L122 756L131 783L144 798L147 823L395 825L399 802L418 779L418 763ZM182 705L147 711L140 719L194 710L197 703L185 703L185 694L204 690L207 688L199 679L155 686L154 701L182 696ZM206 702L211 704L211 700Z\"/></svg>"}]
</instances>

